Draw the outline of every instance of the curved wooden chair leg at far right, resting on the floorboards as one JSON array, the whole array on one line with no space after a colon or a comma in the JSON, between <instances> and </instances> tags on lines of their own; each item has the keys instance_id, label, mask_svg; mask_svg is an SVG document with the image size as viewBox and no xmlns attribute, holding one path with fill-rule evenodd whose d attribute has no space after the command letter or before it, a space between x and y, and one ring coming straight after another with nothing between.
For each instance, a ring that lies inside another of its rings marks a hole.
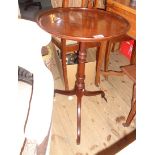
<instances>
[{"instance_id":1,"label":"curved wooden chair leg at far right, resting on the floorboards","mask_svg":"<svg viewBox=\"0 0 155 155\"><path fill-rule=\"evenodd\" d=\"M127 117L126 122L123 123L124 127L128 127L130 125L135 114L136 114L136 84L134 84L134 86L133 86L133 97L132 97L132 101L131 101L131 110L130 110L130 113Z\"/></svg>"}]
</instances>

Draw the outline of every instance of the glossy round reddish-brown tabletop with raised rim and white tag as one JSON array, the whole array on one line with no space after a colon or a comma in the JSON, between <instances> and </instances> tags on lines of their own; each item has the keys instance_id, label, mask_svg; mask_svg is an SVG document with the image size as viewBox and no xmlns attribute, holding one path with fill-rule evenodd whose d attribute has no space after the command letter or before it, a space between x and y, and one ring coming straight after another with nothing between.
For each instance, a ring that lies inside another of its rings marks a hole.
<instances>
[{"instance_id":1,"label":"glossy round reddish-brown tabletop with raised rim and white tag","mask_svg":"<svg viewBox=\"0 0 155 155\"><path fill-rule=\"evenodd\" d=\"M129 22L100 9L54 8L41 12L37 23L60 38L76 41L101 41L126 34Z\"/></svg>"}]
</instances>

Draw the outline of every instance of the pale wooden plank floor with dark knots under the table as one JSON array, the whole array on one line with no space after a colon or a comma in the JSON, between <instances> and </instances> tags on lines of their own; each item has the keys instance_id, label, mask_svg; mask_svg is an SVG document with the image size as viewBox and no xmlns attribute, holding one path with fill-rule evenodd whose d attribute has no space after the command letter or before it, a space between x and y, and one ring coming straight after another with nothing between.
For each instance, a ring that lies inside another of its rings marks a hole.
<instances>
[{"instance_id":1,"label":"pale wooden plank floor with dark knots under the table","mask_svg":"<svg viewBox=\"0 0 155 155\"><path fill-rule=\"evenodd\" d=\"M129 60L118 51L111 53L109 68L119 70L120 65L126 64L129 64ZM52 72L55 88L64 88L57 69ZM82 98L80 145L76 145L76 96L69 98L56 94L53 103L50 154L109 155L110 153L105 151L107 148L135 132L135 118L129 127L122 126L130 110L132 85L132 81L126 76L109 77L108 81L101 76L99 87L94 83L86 84L88 90L104 90L108 102L100 95Z\"/></svg>"}]
</instances>

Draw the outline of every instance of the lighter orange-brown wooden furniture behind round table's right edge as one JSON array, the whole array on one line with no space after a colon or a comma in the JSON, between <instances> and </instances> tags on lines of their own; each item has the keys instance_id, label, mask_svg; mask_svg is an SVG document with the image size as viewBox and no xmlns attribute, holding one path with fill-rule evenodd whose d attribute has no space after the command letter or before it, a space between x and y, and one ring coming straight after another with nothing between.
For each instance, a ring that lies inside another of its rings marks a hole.
<instances>
[{"instance_id":1,"label":"lighter orange-brown wooden furniture behind round table's right edge","mask_svg":"<svg viewBox=\"0 0 155 155\"><path fill-rule=\"evenodd\" d=\"M130 0L107 0L106 10L126 18L131 25L127 34L136 39L136 8L131 6Z\"/></svg>"}]
</instances>

